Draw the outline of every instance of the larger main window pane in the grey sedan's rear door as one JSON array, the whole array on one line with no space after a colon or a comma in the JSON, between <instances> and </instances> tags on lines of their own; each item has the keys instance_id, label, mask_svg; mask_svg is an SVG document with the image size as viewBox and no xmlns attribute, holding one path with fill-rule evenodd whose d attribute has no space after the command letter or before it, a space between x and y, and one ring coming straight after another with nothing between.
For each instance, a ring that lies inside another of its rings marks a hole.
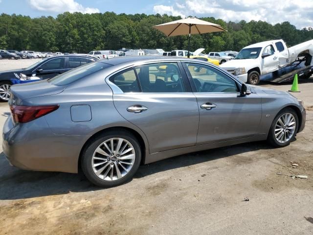
<instances>
[{"instance_id":1,"label":"larger main window pane in the grey sedan's rear door","mask_svg":"<svg viewBox=\"0 0 313 235\"><path fill-rule=\"evenodd\" d=\"M135 68L142 92L178 93L185 86L177 63L156 63Z\"/></svg>"}]
</instances>

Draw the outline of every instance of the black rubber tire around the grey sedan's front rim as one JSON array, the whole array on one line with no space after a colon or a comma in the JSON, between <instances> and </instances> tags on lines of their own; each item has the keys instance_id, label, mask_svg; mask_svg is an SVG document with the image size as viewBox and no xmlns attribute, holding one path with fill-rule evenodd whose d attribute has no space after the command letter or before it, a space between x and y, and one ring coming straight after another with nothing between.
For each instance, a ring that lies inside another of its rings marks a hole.
<instances>
[{"instance_id":1,"label":"black rubber tire around the grey sedan's front rim","mask_svg":"<svg viewBox=\"0 0 313 235\"><path fill-rule=\"evenodd\" d=\"M295 129L294 129L294 133L293 133L292 137L290 138L290 140L289 140L289 141L286 141L286 142L284 142L284 143L282 143L282 142L277 141L276 138L275 138L275 126L276 126L277 120L278 120L282 115L288 114L288 113L289 113L289 114L292 114L293 117L295 118ZM291 108L285 108L285 109L281 110L281 111L277 114L277 116L274 118L274 120L273 120L273 122L272 122L272 124L271 124L271 126L270 126L270 129L269 129L269 132L268 132L268 142L269 142L271 145L273 145L274 147L285 147L285 146L289 145L290 142L294 140L294 137L295 137L296 134L297 134L298 125L299 125L299 118L298 118L297 113L296 113L293 109L291 109Z\"/></svg>"}]
</instances>

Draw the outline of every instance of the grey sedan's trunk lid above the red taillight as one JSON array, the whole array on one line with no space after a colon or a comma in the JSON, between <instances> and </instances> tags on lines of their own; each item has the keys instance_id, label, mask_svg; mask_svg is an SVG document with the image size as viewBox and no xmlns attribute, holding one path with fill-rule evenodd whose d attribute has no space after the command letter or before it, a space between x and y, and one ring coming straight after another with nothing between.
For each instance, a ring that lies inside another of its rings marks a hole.
<instances>
[{"instance_id":1,"label":"grey sedan's trunk lid above the red taillight","mask_svg":"<svg viewBox=\"0 0 313 235\"><path fill-rule=\"evenodd\" d=\"M39 96L59 94L64 91L66 86L54 86L48 80L17 84L11 86L10 90L16 105L20 105L22 100Z\"/></svg>"}]
</instances>

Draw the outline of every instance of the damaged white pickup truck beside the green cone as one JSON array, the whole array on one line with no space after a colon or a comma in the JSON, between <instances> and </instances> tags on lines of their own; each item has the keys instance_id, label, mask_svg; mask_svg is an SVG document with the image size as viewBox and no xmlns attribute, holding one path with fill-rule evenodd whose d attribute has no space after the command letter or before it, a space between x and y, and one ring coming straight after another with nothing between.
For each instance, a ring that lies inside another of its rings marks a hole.
<instances>
[{"instance_id":1,"label":"damaged white pickup truck beside the green cone","mask_svg":"<svg viewBox=\"0 0 313 235\"><path fill-rule=\"evenodd\" d=\"M272 40L244 47L235 59L227 61L220 67L234 74L243 82L256 85L259 83L261 75L276 71L279 74L280 69L294 65L295 62L299 62L299 64L304 62L305 67L296 72L301 72L300 75L303 77L310 77L313 73L312 56L313 40L289 48L283 40ZM280 78L277 78L276 75L274 78L277 82L286 81L288 74L283 75Z\"/></svg>"}]
</instances>

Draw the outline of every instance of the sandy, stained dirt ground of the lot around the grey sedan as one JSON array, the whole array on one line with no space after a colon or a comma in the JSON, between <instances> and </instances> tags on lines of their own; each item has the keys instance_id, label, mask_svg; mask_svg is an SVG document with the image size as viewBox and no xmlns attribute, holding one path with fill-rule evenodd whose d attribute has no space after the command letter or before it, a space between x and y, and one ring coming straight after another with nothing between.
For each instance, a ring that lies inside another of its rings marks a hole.
<instances>
[{"instance_id":1,"label":"sandy, stained dirt ground of the lot around the grey sedan","mask_svg":"<svg viewBox=\"0 0 313 235\"><path fill-rule=\"evenodd\" d=\"M94 187L80 174L20 170L1 153L0 234L312 235L313 78L300 83L294 95L307 122L289 146L252 142L182 155L140 166L116 188ZM8 112L1 103L0 126Z\"/></svg>"}]
</instances>

